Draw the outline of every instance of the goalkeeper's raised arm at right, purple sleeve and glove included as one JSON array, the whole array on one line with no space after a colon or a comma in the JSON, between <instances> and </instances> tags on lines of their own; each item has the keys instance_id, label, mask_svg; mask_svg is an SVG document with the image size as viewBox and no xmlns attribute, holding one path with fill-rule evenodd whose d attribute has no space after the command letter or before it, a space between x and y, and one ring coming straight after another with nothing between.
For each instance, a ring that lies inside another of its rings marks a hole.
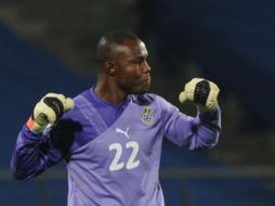
<instances>
[{"instance_id":1,"label":"goalkeeper's raised arm at right, purple sleeve and glove included","mask_svg":"<svg viewBox=\"0 0 275 206\"><path fill-rule=\"evenodd\" d=\"M221 110L218 105L220 89L211 81L194 78L185 85L180 102L191 102L198 108L196 117L191 117L167 104L165 110L165 134L178 145L209 149L218 143L221 132Z\"/></svg>"}]
</instances>

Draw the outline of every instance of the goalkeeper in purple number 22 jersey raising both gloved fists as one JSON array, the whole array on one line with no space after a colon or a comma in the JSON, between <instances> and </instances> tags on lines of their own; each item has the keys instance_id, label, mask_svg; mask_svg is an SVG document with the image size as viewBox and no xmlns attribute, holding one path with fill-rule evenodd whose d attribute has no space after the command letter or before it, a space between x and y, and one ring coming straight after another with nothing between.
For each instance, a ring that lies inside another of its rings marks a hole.
<instances>
[{"instance_id":1,"label":"goalkeeper in purple number 22 jersey raising both gloved fists","mask_svg":"<svg viewBox=\"0 0 275 206\"><path fill-rule=\"evenodd\" d=\"M148 93L150 67L144 42L128 31L104 35L95 86L76 98L48 93L19 131L11 160L15 179L41 175L61 160L68 170L68 206L163 206L161 144L211 149L221 131L215 83L194 78L180 102L195 117Z\"/></svg>"}]
</instances>

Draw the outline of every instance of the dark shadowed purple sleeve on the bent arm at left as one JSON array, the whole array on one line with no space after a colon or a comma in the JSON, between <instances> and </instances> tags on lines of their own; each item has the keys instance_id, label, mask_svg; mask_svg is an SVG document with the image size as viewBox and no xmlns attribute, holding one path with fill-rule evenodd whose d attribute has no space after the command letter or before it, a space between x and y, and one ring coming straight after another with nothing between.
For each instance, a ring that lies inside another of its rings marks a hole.
<instances>
[{"instance_id":1,"label":"dark shadowed purple sleeve on the bent arm at left","mask_svg":"<svg viewBox=\"0 0 275 206\"><path fill-rule=\"evenodd\" d=\"M30 179L61 159L49 136L32 133L24 126L13 150L11 170L15 179Z\"/></svg>"}]
</instances>

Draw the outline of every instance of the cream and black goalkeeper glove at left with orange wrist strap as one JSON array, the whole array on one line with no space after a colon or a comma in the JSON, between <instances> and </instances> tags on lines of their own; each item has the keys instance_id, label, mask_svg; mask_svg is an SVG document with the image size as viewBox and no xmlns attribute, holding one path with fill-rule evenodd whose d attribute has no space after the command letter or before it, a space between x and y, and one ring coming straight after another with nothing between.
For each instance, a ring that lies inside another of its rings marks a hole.
<instances>
[{"instance_id":1,"label":"cream and black goalkeeper glove at left with orange wrist strap","mask_svg":"<svg viewBox=\"0 0 275 206\"><path fill-rule=\"evenodd\" d=\"M48 93L35 106L27 127L35 133L43 132L45 127L55 124L64 113L75 106L70 98L63 94Z\"/></svg>"}]
</instances>

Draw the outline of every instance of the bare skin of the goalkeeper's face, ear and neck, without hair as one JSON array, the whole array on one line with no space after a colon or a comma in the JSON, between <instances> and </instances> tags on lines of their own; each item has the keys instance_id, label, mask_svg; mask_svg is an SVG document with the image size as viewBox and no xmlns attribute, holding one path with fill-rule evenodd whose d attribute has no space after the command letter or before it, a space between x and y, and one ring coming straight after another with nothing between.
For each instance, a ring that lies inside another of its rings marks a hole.
<instances>
[{"instance_id":1,"label":"bare skin of the goalkeeper's face, ear and neck, without hair","mask_svg":"<svg viewBox=\"0 0 275 206\"><path fill-rule=\"evenodd\" d=\"M150 67L147 50L141 40L125 40L115 48L112 60L105 61L94 92L104 101L120 104L128 94L148 91Z\"/></svg>"}]
</instances>

